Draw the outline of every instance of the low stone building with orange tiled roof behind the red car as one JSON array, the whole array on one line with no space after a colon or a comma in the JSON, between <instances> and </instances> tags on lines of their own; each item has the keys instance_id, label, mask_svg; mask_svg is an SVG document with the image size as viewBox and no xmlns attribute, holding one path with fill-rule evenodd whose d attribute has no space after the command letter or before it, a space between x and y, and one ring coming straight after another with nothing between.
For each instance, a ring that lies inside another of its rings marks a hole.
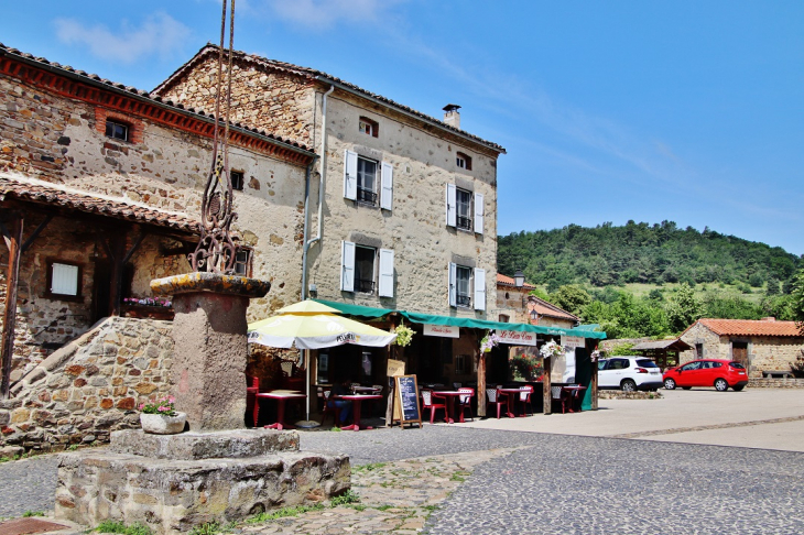
<instances>
[{"instance_id":1,"label":"low stone building with orange tiled roof behind the red car","mask_svg":"<svg viewBox=\"0 0 804 535\"><path fill-rule=\"evenodd\" d=\"M693 347L681 353L682 364L695 359L737 360L752 378L790 372L796 359L804 359L804 335L795 321L703 318L680 338Z\"/></svg>"}]
</instances>

